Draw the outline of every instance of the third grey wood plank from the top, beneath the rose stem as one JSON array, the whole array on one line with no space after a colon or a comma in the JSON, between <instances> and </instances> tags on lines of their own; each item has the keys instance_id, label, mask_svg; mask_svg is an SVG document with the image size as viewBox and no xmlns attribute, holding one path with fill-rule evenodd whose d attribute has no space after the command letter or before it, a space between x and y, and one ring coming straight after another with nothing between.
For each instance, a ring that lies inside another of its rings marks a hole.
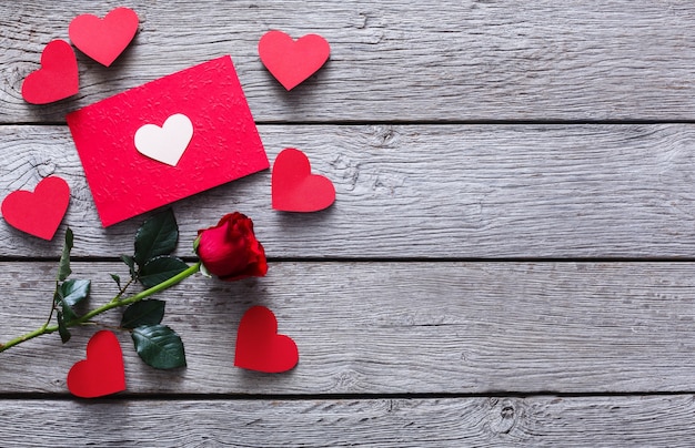
<instances>
[{"instance_id":1,"label":"third grey wood plank from the top, beneath the rose stem","mask_svg":"<svg viewBox=\"0 0 695 448\"><path fill-rule=\"evenodd\" d=\"M95 281L94 304L115 293L108 274L127 271L73 269ZM0 342L43 323L53 272L1 265ZM189 365L153 370L121 334L132 394L647 393L689 391L695 381L688 263L273 263L265 278L201 276L160 298ZM258 304L300 347L288 374L233 366L239 320ZM0 354L0 393L66 393L92 333L77 329L64 347L53 335Z\"/></svg>"}]
</instances>

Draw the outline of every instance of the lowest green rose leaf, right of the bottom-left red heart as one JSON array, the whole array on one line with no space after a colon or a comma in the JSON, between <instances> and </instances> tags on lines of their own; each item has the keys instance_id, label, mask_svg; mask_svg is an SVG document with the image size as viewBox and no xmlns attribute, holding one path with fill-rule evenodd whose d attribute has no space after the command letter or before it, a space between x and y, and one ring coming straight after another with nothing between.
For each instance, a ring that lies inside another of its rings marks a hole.
<instances>
[{"instance_id":1,"label":"lowest green rose leaf, right of the bottom-left red heart","mask_svg":"<svg viewBox=\"0 0 695 448\"><path fill-rule=\"evenodd\" d=\"M185 366L181 337L165 325L143 325L132 333L135 352L149 366L170 369Z\"/></svg>"}]
</instances>

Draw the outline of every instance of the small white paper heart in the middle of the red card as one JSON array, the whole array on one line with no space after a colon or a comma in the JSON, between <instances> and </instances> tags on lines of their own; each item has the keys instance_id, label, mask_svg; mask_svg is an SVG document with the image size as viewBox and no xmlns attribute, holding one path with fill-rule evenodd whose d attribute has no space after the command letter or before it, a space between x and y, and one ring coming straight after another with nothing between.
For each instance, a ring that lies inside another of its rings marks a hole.
<instances>
[{"instance_id":1,"label":"small white paper heart in the middle of the red card","mask_svg":"<svg viewBox=\"0 0 695 448\"><path fill-rule=\"evenodd\" d=\"M145 124L135 132L138 152L158 162L177 166L193 138L193 123L182 113L175 113L157 124Z\"/></svg>"}]
</instances>

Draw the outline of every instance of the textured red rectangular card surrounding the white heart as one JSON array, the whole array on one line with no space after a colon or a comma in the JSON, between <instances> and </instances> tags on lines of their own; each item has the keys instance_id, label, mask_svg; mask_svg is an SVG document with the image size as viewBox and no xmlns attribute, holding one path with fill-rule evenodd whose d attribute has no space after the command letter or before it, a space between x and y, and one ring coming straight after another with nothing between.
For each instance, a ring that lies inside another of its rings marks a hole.
<instances>
[{"instance_id":1,"label":"textured red rectangular card surrounding the white heart","mask_svg":"<svg viewBox=\"0 0 695 448\"><path fill-rule=\"evenodd\" d=\"M182 113L193 138L175 166L138 152L134 135ZM104 226L269 167L230 57L119 93L68 114Z\"/></svg>"}]
</instances>

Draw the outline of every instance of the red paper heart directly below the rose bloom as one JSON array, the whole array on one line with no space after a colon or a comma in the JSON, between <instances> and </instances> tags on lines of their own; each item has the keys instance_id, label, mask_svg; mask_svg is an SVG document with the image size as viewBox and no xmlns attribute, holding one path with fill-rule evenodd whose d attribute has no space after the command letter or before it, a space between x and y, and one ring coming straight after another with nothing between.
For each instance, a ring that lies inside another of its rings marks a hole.
<instances>
[{"instance_id":1,"label":"red paper heart directly below the rose bloom","mask_svg":"<svg viewBox=\"0 0 695 448\"><path fill-rule=\"evenodd\" d=\"M236 367L278 374L296 366L299 358L294 340L278 334L273 312L264 306L254 306L244 313L236 333Z\"/></svg>"}]
</instances>

